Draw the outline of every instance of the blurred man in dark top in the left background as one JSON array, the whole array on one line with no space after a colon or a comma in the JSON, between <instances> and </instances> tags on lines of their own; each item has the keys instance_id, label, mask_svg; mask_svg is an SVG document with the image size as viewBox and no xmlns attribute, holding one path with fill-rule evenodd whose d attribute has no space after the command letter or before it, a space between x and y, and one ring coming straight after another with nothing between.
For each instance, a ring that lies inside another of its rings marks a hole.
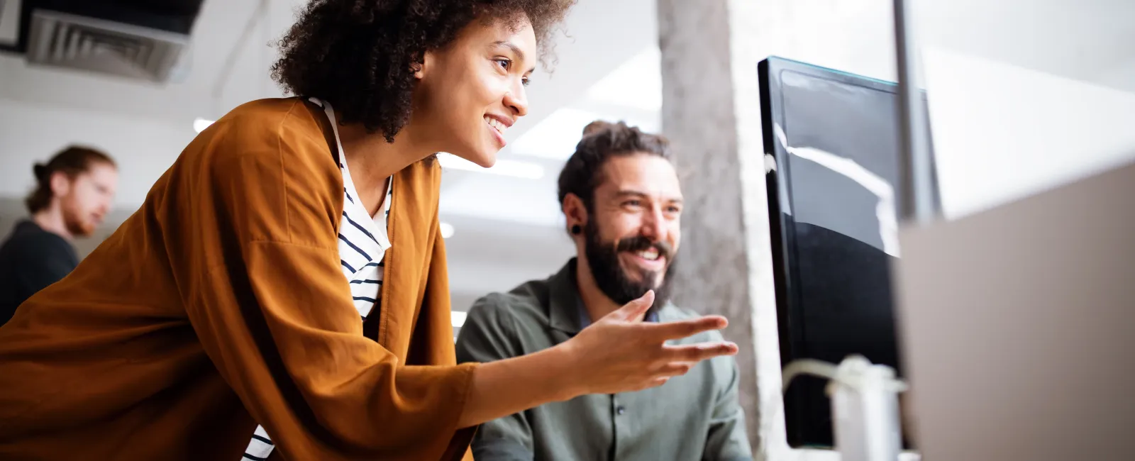
<instances>
[{"instance_id":1,"label":"blurred man in dark top in the left background","mask_svg":"<svg viewBox=\"0 0 1135 461\"><path fill-rule=\"evenodd\" d=\"M89 148L67 148L33 171L35 191L24 201L31 218L17 223L0 245L0 325L24 300L78 266L70 240L94 233L118 184L110 156Z\"/></svg>"}]
</instances>

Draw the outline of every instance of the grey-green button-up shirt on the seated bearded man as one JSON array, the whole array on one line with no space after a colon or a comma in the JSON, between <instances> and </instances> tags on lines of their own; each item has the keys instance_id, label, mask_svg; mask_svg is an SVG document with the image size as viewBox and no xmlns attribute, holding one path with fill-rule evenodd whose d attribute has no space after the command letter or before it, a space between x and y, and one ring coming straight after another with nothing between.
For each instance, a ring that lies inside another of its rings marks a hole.
<instances>
[{"instance_id":1,"label":"grey-green button-up shirt on the seated bearded man","mask_svg":"<svg viewBox=\"0 0 1135 461\"><path fill-rule=\"evenodd\" d=\"M457 337L457 361L523 355L574 336L588 318L586 312L580 316L574 274L573 259L546 280L478 300ZM695 316L669 303L658 310L658 321ZM675 343L721 340L720 333L708 332ZM477 461L751 460L737 386L732 358L706 360L659 387L583 395L486 422L473 439L473 456Z\"/></svg>"}]
</instances>

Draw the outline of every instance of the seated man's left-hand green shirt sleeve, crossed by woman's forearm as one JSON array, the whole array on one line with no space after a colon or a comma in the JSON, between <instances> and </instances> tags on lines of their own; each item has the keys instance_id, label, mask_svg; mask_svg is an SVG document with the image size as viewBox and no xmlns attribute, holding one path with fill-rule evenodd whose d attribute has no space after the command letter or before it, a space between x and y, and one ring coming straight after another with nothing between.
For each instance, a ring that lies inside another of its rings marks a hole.
<instances>
[{"instance_id":1,"label":"seated man's left-hand green shirt sleeve, crossed by woman's forearm","mask_svg":"<svg viewBox=\"0 0 1135 461\"><path fill-rule=\"evenodd\" d=\"M459 363L523 355L504 295L489 294L469 309L456 346ZM532 429L523 412L498 418L481 425L472 449L477 461L531 461Z\"/></svg>"}]
</instances>

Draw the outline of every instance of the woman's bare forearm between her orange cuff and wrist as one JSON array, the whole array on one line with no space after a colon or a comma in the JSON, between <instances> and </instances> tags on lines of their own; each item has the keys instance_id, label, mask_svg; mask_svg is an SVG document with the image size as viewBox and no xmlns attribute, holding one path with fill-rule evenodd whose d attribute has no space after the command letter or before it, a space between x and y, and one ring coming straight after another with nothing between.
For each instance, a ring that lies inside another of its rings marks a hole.
<instances>
[{"instance_id":1,"label":"woman's bare forearm between her orange cuff and wrist","mask_svg":"<svg viewBox=\"0 0 1135 461\"><path fill-rule=\"evenodd\" d=\"M528 355L481 363L457 427L521 412L583 394L571 352L564 344Z\"/></svg>"}]
</instances>

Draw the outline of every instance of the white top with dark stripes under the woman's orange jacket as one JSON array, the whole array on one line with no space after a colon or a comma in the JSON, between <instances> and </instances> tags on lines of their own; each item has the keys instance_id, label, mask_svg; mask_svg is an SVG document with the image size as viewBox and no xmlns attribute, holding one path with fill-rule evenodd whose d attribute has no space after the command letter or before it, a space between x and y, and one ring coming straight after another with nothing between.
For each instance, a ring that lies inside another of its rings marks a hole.
<instances>
[{"instance_id":1,"label":"white top with dark stripes under the woman's orange jacket","mask_svg":"<svg viewBox=\"0 0 1135 461\"><path fill-rule=\"evenodd\" d=\"M343 216L339 218L339 267L346 276L351 286L351 299L359 310L361 320L367 316L378 315L380 302L379 293L382 286L382 258L386 250L390 249L390 238L386 233L387 219L390 216L390 202L394 200L392 191L393 178L386 179L386 198L375 216L359 201L359 192L354 182L351 181L351 171L347 168L346 158L343 157L343 143L339 142L339 128L335 121L335 111L331 104L311 99L323 108L327 118L331 121L335 131L335 143L338 146L339 171L343 173ZM272 449L271 438L264 428L257 426L257 431L249 442L249 447L244 451L244 459L262 461L268 459Z\"/></svg>"}]
</instances>

